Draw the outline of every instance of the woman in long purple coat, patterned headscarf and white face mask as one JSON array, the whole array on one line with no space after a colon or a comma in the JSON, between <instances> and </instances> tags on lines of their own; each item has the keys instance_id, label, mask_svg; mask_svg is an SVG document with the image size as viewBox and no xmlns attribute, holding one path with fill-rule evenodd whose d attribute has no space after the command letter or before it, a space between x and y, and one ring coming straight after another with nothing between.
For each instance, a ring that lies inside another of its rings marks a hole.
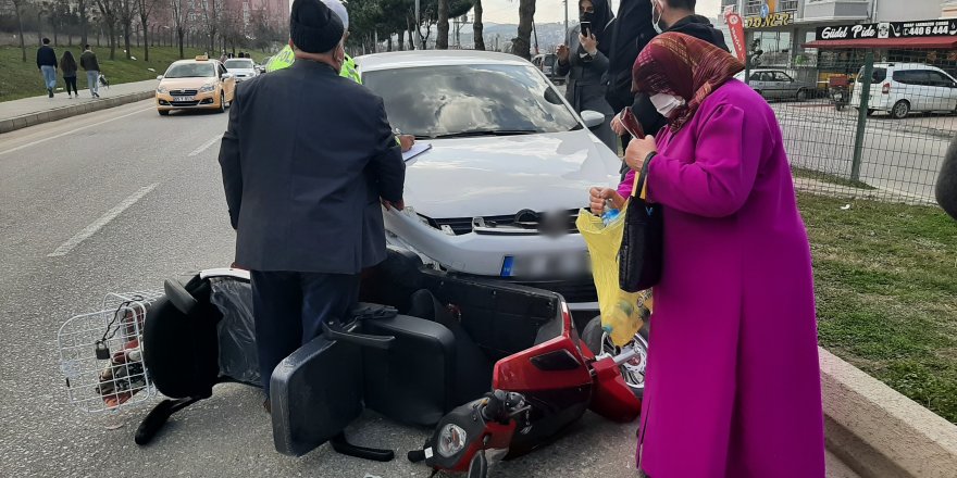
<instances>
[{"instance_id":1,"label":"woman in long purple coat, patterned headscarf and white face mask","mask_svg":"<svg viewBox=\"0 0 957 478\"><path fill-rule=\"evenodd\" d=\"M634 66L669 127L633 140L621 204L648 162L663 205L637 460L651 478L824 476L813 282L781 129L742 64L681 34Z\"/></svg>"}]
</instances>

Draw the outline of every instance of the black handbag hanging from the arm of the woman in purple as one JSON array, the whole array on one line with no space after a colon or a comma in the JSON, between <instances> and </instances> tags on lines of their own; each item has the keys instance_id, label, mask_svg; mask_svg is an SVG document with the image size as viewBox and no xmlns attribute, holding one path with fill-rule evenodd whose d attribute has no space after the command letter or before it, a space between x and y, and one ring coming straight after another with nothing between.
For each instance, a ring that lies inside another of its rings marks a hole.
<instances>
[{"instance_id":1,"label":"black handbag hanging from the arm of the woman in purple","mask_svg":"<svg viewBox=\"0 0 957 478\"><path fill-rule=\"evenodd\" d=\"M646 290L661 280L663 210L660 204L651 204L642 198L650 163L648 160L632 190L624 216L621 248L618 250L618 285L625 292Z\"/></svg>"}]
</instances>

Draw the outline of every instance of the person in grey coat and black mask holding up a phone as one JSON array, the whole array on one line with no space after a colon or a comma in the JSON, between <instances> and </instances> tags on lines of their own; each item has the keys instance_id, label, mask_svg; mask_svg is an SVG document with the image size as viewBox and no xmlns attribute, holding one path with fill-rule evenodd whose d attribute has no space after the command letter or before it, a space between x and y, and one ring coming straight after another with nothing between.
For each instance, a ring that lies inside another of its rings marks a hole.
<instances>
[{"instance_id":1,"label":"person in grey coat and black mask holding up a phone","mask_svg":"<svg viewBox=\"0 0 957 478\"><path fill-rule=\"evenodd\" d=\"M566 98L576 112L591 110L605 115L595 136L618 153L618 137L611 130L614 112L605 100L608 56L598 49L613 18L611 7L609 0L581 0L579 13L581 23L569 30L567 43L558 47L558 75L568 75Z\"/></svg>"}]
</instances>

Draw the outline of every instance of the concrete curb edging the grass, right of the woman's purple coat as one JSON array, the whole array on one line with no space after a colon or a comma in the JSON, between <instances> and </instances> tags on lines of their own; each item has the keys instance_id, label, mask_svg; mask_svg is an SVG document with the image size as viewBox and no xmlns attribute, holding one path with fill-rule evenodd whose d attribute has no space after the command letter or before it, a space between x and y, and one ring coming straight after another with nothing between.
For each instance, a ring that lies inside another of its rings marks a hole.
<instances>
[{"instance_id":1,"label":"concrete curb edging the grass, right of the woman's purple coat","mask_svg":"<svg viewBox=\"0 0 957 478\"><path fill-rule=\"evenodd\" d=\"M828 450L863 478L957 476L957 425L818 348Z\"/></svg>"}]
</instances>

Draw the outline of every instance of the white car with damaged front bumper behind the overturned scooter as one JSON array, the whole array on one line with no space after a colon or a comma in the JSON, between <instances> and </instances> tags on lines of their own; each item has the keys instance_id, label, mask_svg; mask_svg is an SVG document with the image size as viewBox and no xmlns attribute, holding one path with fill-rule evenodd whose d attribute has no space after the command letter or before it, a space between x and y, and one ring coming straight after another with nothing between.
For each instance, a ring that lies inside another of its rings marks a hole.
<instances>
[{"instance_id":1,"label":"white car with damaged front bumper behind the overturned scooter","mask_svg":"<svg viewBox=\"0 0 957 478\"><path fill-rule=\"evenodd\" d=\"M357 62L393 127L432 146L407 162L407 207L385 213L389 244L444 271L559 292L597 314L574 221L589 187L619 180L621 161L588 130L604 116L579 116L538 68L510 54Z\"/></svg>"}]
</instances>

